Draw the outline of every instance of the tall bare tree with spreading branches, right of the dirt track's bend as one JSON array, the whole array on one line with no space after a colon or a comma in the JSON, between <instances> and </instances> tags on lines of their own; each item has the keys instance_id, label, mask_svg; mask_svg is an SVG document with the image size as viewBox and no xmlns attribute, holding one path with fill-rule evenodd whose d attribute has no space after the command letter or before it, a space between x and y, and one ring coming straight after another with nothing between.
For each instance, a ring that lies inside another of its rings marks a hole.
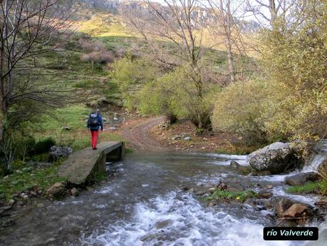
<instances>
[{"instance_id":1,"label":"tall bare tree with spreading branches, right of the dirt track's bend","mask_svg":"<svg viewBox=\"0 0 327 246\"><path fill-rule=\"evenodd\" d=\"M167 69L185 69L188 83L196 88L195 92L187 91L186 86L182 88L193 101L188 108L191 121L206 128L210 125L210 113L202 108L206 81L201 61L210 47L203 45L202 4L197 0L163 0L163 4L146 0L132 4L137 5L137 11L127 6L121 10L121 16L144 38L147 55L153 61Z\"/></svg>"}]
</instances>

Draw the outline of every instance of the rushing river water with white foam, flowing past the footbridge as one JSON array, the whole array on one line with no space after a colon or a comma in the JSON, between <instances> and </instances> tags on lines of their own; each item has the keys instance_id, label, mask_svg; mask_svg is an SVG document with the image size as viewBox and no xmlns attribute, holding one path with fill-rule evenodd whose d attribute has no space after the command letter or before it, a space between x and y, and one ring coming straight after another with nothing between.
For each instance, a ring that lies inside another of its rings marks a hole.
<instances>
[{"instance_id":1,"label":"rushing river water with white foam, flowing past the footbridge","mask_svg":"<svg viewBox=\"0 0 327 246\"><path fill-rule=\"evenodd\" d=\"M46 203L0 230L0 245L305 245L301 241L264 241L271 211L221 204L208 207L182 186L217 184L239 188L274 185L284 193L285 175L245 177L229 167L246 165L246 156L190 153L128 155L115 163L119 175L78 198ZM200 184L201 183L201 184ZM313 203L313 197L297 200Z\"/></svg>"}]
</instances>

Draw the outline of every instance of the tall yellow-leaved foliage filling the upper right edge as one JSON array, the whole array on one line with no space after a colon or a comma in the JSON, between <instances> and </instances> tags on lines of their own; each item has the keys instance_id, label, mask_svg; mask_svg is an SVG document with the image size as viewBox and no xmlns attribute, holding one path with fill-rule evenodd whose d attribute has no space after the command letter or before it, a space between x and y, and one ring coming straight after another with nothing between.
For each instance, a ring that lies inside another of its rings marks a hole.
<instances>
[{"instance_id":1,"label":"tall yellow-leaved foliage filling the upper right edge","mask_svg":"<svg viewBox=\"0 0 327 246\"><path fill-rule=\"evenodd\" d=\"M291 19L276 19L261 35L261 61L269 81L285 95L266 124L293 138L322 138L327 121L327 3L307 1Z\"/></svg>"}]
</instances>

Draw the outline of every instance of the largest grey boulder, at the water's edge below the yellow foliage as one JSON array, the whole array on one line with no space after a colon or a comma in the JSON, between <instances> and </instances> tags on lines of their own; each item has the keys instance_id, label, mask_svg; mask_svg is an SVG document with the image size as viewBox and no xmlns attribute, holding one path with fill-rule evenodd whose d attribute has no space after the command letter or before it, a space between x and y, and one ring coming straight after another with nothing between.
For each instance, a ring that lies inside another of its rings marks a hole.
<instances>
[{"instance_id":1,"label":"largest grey boulder, at the water's edge below the yellow foliage","mask_svg":"<svg viewBox=\"0 0 327 246\"><path fill-rule=\"evenodd\" d=\"M284 173L303 164L303 159L297 157L299 152L301 150L294 143L276 142L252 152L247 160L254 170L268 170L272 174Z\"/></svg>"}]
</instances>

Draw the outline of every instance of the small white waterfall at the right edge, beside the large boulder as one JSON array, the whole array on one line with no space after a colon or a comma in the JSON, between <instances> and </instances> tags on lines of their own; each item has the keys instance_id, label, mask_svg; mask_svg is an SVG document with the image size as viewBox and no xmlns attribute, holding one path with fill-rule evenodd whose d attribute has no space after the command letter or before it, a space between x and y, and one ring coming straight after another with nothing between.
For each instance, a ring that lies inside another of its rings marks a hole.
<instances>
[{"instance_id":1,"label":"small white waterfall at the right edge, beside the large boulder","mask_svg":"<svg viewBox=\"0 0 327 246\"><path fill-rule=\"evenodd\" d=\"M316 171L318 166L327 159L327 139L320 140L314 148L314 153L302 169L302 173Z\"/></svg>"}]
</instances>

